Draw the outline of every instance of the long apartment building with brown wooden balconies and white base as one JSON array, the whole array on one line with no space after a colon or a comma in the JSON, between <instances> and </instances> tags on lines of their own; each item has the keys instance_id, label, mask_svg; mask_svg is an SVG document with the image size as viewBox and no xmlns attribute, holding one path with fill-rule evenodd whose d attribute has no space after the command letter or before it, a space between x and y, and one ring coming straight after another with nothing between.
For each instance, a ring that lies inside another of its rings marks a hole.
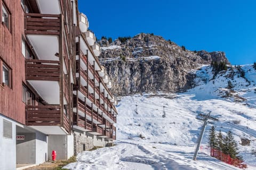
<instances>
[{"instance_id":1,"label":"long apartment building with brown wooden balconies and white base","mask_svg":"<svg viewBox=\"0 0 256 170\"><path fill-rule=\"evenodd\" d=\"M0 169L116 139L111 81L77 1L0 0Z\"/></svg>"}]
</instances>

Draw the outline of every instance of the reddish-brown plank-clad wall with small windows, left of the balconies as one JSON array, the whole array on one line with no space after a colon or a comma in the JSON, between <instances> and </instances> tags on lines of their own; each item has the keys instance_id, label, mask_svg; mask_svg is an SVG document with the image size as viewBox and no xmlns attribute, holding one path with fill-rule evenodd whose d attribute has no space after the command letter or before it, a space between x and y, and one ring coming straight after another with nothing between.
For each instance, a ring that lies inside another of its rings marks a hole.
<instances>
[{"instance_id":1,"label":"reddish-brown plank-clad wall with small windows, left of the balconies","mask_svg":"<svg viewBox=\"0 0 256 170\"><path fill-rule=\"evenodd\" d=\"M22 102L22 83L25 79L25 57L21 53L21 38L24 36L24 11L20 2L12 0L0 1L0 15L2 19L2 5L5 4L10 12L10 30L0 23L0 114L25 124L25 103ZM3 63L10 68L10 82L8 87L3 84Z\"/></svg>"}]
</instances>

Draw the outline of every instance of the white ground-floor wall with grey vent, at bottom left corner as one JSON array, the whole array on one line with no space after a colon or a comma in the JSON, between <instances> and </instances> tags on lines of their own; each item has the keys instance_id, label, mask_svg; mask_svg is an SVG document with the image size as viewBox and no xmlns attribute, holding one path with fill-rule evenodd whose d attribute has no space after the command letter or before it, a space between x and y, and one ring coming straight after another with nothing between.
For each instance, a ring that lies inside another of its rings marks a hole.
<instances>
[{"instance_id":1,"label":"white ground-floor wall with grey vent, at bottom left corner","mask_svg":"<svg viewBox=\"0 0 256 170\"><path fill-rule=\"evenodd\" d=\"M3 137L3 119L12 122L12 139ZM16 169L16 123L0 115L0 169Z\"/></svg>"}]
</instances>

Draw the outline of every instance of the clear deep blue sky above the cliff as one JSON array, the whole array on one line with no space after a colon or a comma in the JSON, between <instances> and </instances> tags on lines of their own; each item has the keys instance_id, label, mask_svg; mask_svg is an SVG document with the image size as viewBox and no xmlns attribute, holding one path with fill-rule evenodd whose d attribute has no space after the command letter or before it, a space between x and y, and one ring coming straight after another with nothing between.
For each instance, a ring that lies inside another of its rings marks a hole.
<instances>
[{"instance_id":1,"label":"clear deep blue sky above the cliff","mask_svg":"<svg viewBox=\"0 0 256 170\"><path fill-rule=\"evenodd\" d=\"M224 51L233 65L256 62L256 1L78 0L97 38L154 33L189 50Z\"/></svg>"}]
</instances>

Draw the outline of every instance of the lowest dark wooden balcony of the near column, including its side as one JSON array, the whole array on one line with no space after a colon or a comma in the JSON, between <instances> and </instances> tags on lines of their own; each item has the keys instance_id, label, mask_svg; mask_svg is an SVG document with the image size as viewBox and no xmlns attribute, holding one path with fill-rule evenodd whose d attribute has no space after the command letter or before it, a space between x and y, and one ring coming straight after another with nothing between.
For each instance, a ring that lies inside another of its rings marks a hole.
<instances>
[{"instance_id":1,"label":"lowest dark wooden balcony of the near column, including its side","mask_svg":"<svg viewBox=\"0 0 256 170\"><path fill-rule=\"evenodd\" d=\"M61 126L59 105L27 106L27 126ZM63 128L69 132L69 119L63 114Z\"/></svg>"}]
</instances>

